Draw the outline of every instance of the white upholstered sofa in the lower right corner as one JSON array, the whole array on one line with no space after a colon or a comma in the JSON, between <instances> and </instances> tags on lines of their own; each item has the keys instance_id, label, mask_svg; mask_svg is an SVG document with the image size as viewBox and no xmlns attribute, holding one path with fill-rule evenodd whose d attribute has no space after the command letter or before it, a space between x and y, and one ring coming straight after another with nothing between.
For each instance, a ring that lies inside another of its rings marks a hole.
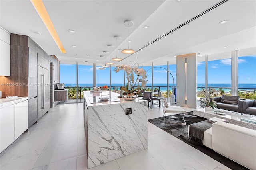
<instances>
[{"instance_id":1,"label":"white upholstered sofa in the lower right corner","mask_svg":"<svg viewBox=\"0 0 256 170\"><path fill-rule=\"evenodd\" d=\"M226 122L215 122L204 131L203 145L256 170L256 131Z\"/></svg>"}]
</instances>

